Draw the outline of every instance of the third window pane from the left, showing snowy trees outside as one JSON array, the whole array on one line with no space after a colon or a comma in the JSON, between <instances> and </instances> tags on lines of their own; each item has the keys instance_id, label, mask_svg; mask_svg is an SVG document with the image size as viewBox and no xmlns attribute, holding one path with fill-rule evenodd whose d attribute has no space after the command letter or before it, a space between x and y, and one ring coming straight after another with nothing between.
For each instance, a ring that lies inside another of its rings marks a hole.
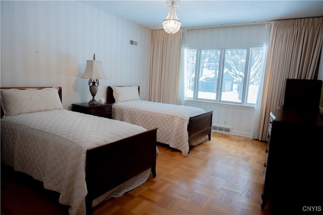
<instances>
[{"instance_id":1,"label":"third window pane from the left, showing snowy trees outside","mask_svg":"<svg viewBox=\"0 0 323 215\"><path fill-rule=\"evenodd\" d=\"M225 50L221 100L241 103L247 50Z\"/></svg>"}]
</instances>

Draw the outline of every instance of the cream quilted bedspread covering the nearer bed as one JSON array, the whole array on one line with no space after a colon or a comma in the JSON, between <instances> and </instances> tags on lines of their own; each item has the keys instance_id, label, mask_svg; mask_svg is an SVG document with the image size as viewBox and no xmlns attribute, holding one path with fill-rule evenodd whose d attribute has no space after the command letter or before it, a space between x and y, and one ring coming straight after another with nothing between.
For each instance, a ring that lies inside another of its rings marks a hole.
<instances>
[{"instance_id":1,"label":"cream quilted bedspread covering the nearer bed","mask_svg":"<svg viewBox=\"0 0 323 215\"><path fill-rule=\"evenodd\" d=\"M19 132L17 132L17 129ZM70 214L85 214L86 150L145 131L126 122L68 110L1 119L2 160L61 193Z\"/></svg>"}]
</instances>

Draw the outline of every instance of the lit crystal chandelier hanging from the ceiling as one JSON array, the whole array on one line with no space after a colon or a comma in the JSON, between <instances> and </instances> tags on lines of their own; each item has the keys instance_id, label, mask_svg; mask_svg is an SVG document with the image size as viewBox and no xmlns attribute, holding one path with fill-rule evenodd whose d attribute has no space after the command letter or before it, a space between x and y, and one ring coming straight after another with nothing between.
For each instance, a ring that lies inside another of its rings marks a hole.
<instances>
[{"instance_id":1,"label":"lit crystal chandelier hanging from the ceiling","mask_svg":"<svg viewBox=\"0 0 323 215\"><path fill-rule=\"evenodd\" d=\"M181 3L179 0L167 0L166 8L170 9L168 16L163 21L164 30L169 34L175 34L180 30L181 21L176 16L176 10L179 10Z\"/></svg>"}]
</instances>

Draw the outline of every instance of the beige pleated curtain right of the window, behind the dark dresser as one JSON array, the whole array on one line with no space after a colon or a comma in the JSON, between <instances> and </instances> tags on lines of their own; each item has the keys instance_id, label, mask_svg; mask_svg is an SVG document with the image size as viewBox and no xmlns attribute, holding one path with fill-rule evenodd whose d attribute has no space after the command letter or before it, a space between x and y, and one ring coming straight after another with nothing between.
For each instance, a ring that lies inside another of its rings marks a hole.
<instances>
[{"instance_id":1,"label":"beige pleated curtain right of the window, behind the dark dresser","mask_svg":"<svg viewBox=\"0 0 323 215\"><path fill-rule=\"evenodd\" d=\"M283 104L286 79L315 78L322 41L323 17L272 22L259 131L254 138L267 140L269 114Z\"/></svg>"}]
</instances>

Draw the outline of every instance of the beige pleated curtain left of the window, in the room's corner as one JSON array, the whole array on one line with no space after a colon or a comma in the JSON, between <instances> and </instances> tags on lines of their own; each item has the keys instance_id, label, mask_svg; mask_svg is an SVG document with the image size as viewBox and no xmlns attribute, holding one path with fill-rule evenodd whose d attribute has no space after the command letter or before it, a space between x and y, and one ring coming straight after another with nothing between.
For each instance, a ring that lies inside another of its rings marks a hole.
<instances>
[{"instance_id":1,"label":"beige pleated curtain left of the window, in the room's corner","mask_svg":"<svg viewBox=\"0 0 323 215\"><path fill-rule=\"evenodd\" d=\"M150 57L149 100L176 104L180 76L182 29L176 34L153 30Z\"/></svg>"}]
</instances>

